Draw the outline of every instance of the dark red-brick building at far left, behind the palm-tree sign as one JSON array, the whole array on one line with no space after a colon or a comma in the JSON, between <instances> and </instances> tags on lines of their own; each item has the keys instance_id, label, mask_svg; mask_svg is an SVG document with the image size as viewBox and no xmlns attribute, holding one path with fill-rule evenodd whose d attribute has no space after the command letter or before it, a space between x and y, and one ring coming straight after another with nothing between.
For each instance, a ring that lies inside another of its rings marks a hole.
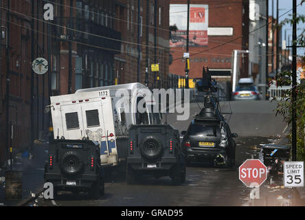
<instances>
[{"instance_id":1,"label":"dark red-brick building at far left, behind the palm-tree sign","mask_svg":"<svg viewBox=\"0 0 305 220\"><path fill-rule=\"evenodd\" d=\"M43 126L47 126L43 108L47 104L48 74L38 76L31 67L34 58L47 58L47 36L43 34L46 24L41 21L43 1L2 0L0 5L2 166L9 158L10 146L14 153L22 151L38 138Z\"/></svg>"}]
</instances>

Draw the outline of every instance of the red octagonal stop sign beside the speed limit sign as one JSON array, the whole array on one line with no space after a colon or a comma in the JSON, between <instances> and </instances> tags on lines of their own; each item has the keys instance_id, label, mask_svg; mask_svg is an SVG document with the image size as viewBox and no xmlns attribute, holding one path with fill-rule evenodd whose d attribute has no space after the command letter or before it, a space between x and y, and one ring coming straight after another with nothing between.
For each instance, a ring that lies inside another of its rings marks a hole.
<instances>
[{"instance_id":1,"label":"red octagonal stop sign beside the speed limit sign","mask_svg":"<svg viewBox=\"0 0 305 220\"><path fill-rule=\"evenodd\" d=\"M260 186L267 179L267 167L259 159L247 159L239 167L239 179L248 187Z\"/></svg>"}]
</instances>

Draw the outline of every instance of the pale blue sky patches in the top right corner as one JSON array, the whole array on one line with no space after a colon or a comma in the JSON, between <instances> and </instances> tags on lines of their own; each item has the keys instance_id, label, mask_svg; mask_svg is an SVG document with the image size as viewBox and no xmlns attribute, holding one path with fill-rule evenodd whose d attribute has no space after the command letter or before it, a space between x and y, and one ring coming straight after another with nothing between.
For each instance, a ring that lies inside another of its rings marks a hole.
<instances>
[{"instance_id":1,"label":"pale blue sky patches in the top right corner","mask_svg":"<svg viewBox=\"0 0 305 220\"><path fill-rule=\"evenodd\" d=\"M276 2L277 0L269 0L269 16L271 16L272 14L272 1L273 1L273 16L276 18ZM301 3L302 0L297 0L297 5L299 5ZM291 10L293 8L293 0L278 0L278 5L279 5L279 17L281 16L281 14L284 14L286 11ZM291 12L288 12L287 14L285 14L284 16L280 17L280 22L283 21L284 19L291 19L292 17L289 16L289 14L291 15L293 13L293 11L291 10ZM302 3L302 5L297 6L297 14L302 14L305 15L305 2ZM302 31L305 28L305 23L298 23L297 24L297 29L300 28L300 30L297 30L297 36L299 36L299 34L302 33ZM287 34L287 39L288 36L290 36L290 40L292 41L292 25L290 24L286 24L284 25L284 27L282 28L282 39L285 39L284 36L284 30L286 30L286 34ZM289 43L287 42L286 45L289 45ZM291 45L291 43L290 43ZM297 49L297 55L304 55L305 54L305 48L298 48Z\"/></svg>"}]
</instances>

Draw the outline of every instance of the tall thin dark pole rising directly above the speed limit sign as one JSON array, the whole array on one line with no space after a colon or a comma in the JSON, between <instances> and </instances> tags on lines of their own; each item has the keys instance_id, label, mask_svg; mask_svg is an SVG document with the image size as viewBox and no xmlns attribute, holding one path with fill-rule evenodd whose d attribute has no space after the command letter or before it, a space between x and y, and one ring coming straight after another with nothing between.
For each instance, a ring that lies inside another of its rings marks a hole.
<instances>
[{"instance_id":1,"label":"tall thin dark pole rising directly above the speed limit sign","mask_svg":"<svg viewBox=\"0 0 305 220\"><path fill-rule=\"evenodd\" d=\"M292 118L291 118L291 133L292 133L292 160L297 160L297 109L295 102L297 100L297 0L293 0L293 63L292 63Z\"/></svg>"}]
</instances>

